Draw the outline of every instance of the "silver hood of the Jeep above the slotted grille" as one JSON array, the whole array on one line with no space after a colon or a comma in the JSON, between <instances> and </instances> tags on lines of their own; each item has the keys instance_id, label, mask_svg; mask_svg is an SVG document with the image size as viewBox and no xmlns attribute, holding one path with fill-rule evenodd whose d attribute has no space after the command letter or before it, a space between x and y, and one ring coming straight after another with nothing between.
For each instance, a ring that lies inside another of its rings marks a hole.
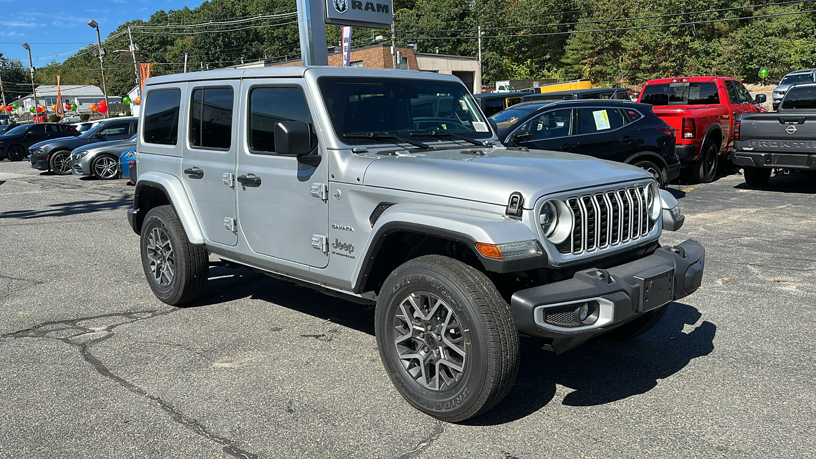
<instances>
[{"instance_id":1,"label":"silver hood of the Jeep above the slotted grille","mask_svg":"<svg viewBox=\"0 0 816 459\"><path fill-rule=\"evenodd\" d=\"M463 154L481 150L484 156ZM532 208L543 194L650 178L639 167L583 154L547 150L410 150L410 156L379 157L366 168L363 184L507 205L514 191ZM420 156L422 155L422 156Z\"/></svg>"}]
</instances>

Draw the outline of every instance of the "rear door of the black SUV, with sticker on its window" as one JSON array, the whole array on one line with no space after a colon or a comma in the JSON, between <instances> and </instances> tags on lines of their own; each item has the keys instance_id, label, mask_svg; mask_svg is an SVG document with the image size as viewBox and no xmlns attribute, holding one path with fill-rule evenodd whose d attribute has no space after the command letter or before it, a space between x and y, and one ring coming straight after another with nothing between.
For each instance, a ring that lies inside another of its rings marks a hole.
<instances>
[{"instance_id":1,"label":"rear door of the black SUV, with sticker on its window","mask_svg":"<svg viewBox=\"0 0 816 459\"><path fill-rule=\"evenodd\" d=\"M578 146L573 153L623 163L641 146L637 127L629 123L623 109L610 106L578 109Z\"/></svg>"}]
</instances>

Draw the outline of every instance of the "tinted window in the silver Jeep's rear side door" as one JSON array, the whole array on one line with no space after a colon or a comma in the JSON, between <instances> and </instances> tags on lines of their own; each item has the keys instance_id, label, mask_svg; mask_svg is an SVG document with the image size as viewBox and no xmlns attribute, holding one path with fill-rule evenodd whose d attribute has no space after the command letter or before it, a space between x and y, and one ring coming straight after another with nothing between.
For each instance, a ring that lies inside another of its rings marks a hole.
<instances>
[{"instance_id":1,"label":"tinted window in the silver Jeep's rear side door","mask_svg":"<svg viewBox=\"0 0 816 459\"><path fill-rule=\"evenodd\" d=\"M233 139L233 88L193 91L190 143L195 147L229 149Z\"/></svg>"}]
</instances>

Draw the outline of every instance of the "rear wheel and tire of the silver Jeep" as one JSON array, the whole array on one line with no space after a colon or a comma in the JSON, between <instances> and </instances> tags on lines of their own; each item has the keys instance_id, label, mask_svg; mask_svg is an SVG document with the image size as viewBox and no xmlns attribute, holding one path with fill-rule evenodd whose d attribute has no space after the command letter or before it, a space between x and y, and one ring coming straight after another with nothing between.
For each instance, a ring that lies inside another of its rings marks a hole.
<instances>
[{"instance_id":1,"label":"rear wheel and tire of the silver Jeep","mask_svg":"<svg viewBox=\"0 0 816 459\"><path fill-rule=\"evenodd\" d=\"M159 244L155 243L157 235ZM168 305L184 305L201 296L210 274L209 258L204 247L189 243L172 206L153 207L144 216L140 247L144 275L159 300ZM159 264L151 260L151 256L157 257L156 247L161 249ZM172 270L169 279L163 278L166 282L157 279L156 273L161 270L156 266Z\"/></svg>"}]
</instances>

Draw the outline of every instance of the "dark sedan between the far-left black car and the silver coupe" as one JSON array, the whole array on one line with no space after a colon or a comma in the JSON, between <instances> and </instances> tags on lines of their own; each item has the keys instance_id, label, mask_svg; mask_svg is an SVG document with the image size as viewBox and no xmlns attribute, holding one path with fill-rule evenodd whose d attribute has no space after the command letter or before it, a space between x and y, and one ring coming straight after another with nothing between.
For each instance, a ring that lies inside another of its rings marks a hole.
<instances>
[{"instance_id":1,"label":"dark sedan between the far-left black car and the silver coupe","mask_svg":"<svg viewBox=\"0 0 816 459\"><path fill-rule=\"evenodd\" d=\"M136 133L139 118L111 118L71 139L39 142L29 148L31 167L65 176L73 174L71 150L82 145L125 140Z\"/></svg>"}]
</instances>

